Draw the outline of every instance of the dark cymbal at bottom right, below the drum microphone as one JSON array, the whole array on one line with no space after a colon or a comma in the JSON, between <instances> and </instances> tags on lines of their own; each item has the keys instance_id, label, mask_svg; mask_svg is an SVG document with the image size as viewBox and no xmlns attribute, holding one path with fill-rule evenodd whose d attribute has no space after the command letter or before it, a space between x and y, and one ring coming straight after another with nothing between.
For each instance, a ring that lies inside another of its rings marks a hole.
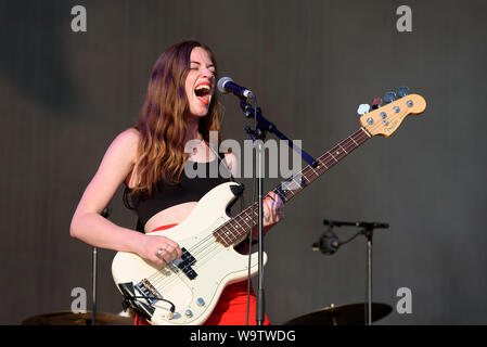
<instances>
[{"instance_id":1,"label":"dark cymbal at bottom right, below the drum microphone","mask_svg":"<svg viewBox=\"0 0 487 347\"><path fill-rule=\"evenodd\" d=\"M367 303L331 306L299 316L284 325L364 325ZM386 304L372 303L372 321L377 321L393 311Z\"/></svg>"}]
</instances>

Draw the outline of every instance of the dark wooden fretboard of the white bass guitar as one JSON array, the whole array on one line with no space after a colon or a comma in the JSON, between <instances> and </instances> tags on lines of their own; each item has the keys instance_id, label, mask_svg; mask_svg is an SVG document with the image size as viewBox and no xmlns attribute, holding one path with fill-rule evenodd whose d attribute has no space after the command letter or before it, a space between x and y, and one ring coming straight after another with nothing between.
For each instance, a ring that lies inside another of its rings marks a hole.
<instances>
[{"instance_id":1,"label":"dark wooden fretboard of the white bass guitar","mask_svg":"<svg viewBox=\"0 0 487 347\"><path fill-rule=\"evenodd\" d=\"M282 181L272 192L279 195L283 203L287 203L369 138L369 133L363 128L360 128L318 157L313 165L307 165L300 171ZM215 230L214 236L219 243L228 247L243 240L251 232L252 227L257 226L257 223L258 203L254 203Z\"/></svg>"}]
</instances>

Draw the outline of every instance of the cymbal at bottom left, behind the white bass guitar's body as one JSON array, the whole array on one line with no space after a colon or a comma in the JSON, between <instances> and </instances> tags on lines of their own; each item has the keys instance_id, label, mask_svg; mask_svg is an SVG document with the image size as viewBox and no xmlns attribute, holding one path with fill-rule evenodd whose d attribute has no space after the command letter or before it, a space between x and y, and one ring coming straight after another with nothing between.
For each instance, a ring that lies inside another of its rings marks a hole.
<instances>
[{"instance_id":1,"label":"cymbal at bottom left, behind the white bass guitar's body","mask_svg":"<svg viewBox=\"0 0 487 347\"><path fill-rule=\"evenodd\" d=\"M95 325L132 325L133 318L114 313L97 312ZM27 318L22 325L91 325L91 312L51 312Z\"/></svg>"}]
</instances>

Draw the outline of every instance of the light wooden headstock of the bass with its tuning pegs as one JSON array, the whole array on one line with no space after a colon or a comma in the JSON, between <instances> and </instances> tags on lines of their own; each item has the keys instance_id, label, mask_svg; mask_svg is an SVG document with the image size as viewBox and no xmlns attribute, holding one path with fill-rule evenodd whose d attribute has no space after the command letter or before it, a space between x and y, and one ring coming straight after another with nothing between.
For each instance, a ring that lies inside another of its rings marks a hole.
<instances>
[{"instance_id":1,"label":"light wooden headstock of the bass with its tuning pegs","mask_svg":"<svg viewBox=\"0 0 487 347\"><path fill-rule=\"evenodd\" d=\"M400 126L402 120L409 115L419 115L426 108L426 101L423 97L418 94L408 94L408 87L399 87L397 94L395 92L387 92L384 95L384 103L382 107L377 104L377 99L372 102L372 111L364 113L360 117L360 124L371 136L383 136L388 138ZM397 98L400 99L397 99ZM379 99L380 100L380 99ZM361 110L367 107L361 105ZM359 107L360 110L360 107Z\"/></svg>"}]
</instances>

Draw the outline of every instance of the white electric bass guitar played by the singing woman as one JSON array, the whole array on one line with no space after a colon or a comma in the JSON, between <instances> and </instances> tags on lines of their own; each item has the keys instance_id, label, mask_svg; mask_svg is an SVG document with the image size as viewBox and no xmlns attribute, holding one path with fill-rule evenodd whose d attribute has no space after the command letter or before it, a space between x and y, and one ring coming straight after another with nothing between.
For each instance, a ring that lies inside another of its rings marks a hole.
<instances>
[{"instance_id":1,"label":"white electric bass guitar played by the singing woman","mask_svg":"<svg viewBox=\"0 0 487 347\"><path fill-rule=\"evenodd\" d=\"M406 116L421 114L425 107L422 97L410 94L364 113L359 130L321 155L313 165L280 183L273 192L284 203L289 202L368 139L376 134L389 137ZM227 214L241 193L238 183L220 184L202 197L183 222L151 233L177 242L183 252L180 259L159 268L136 254L118 252L113 259L112 273L125 305L151 324L204 323L223 288L248 274L247 256L233 247L245 239L253 224L257 224L258 209L254 204L233 218ZM252 275L258 270L257 258L257 253L251 256ZM267 261L267 255L264 260Z\"/></svg>"}]
</instances>

